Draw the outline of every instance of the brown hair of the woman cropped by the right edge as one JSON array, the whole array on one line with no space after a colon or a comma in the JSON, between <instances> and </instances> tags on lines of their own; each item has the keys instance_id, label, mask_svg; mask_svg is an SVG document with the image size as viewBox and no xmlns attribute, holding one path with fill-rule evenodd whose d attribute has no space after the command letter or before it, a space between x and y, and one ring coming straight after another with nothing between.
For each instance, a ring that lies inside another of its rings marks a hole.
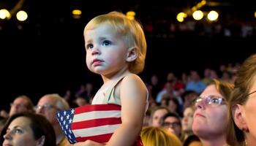
<instances>
[{"instance_id":1,"label":"brown hair of the woman cropped by the right edge","mask_svg":"<svg viewBox=\"0 0 256 146\"><path fill-rule=\"evenodd\" d=\"M246 145L244 132L236 126L233 120L232 108L236 104L244 105L246 103L249 90L254 83L254 77L256 77L256 54L247 58L236 73L235 88L228 105L227 144L229 145Z\"/></svg>"}]
</instances>

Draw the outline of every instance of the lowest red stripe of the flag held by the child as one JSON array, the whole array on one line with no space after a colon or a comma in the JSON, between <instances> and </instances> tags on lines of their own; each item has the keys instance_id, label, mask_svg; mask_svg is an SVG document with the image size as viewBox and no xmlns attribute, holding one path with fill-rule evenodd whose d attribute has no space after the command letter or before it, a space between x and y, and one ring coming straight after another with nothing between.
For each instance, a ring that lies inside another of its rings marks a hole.
<instances>
[{"instance_id":1,"label":"lowest red stripe of the flag held by the child","mask_svg":"<svg viewBox=\"0 0 256 146\"><path fill-rule=\"evenodd\" d=\"M105 143L108 142L110 137L112 136L113 133L111 134L102 134L102 135L97 135L97 136L92 136L92 137L76 137L78 142L85 142L86 140L90 139L94 142L99 142L99 143Z\"/></svg>"}]
</instances>

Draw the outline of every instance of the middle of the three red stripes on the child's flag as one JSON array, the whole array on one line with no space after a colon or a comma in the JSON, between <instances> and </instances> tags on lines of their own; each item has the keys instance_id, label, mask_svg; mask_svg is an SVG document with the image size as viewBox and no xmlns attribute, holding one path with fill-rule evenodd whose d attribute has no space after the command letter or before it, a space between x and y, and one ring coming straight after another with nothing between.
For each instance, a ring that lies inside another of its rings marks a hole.
<instances>
[{"instance_id":1,"label":"middle of the three red stripes on the child's flag","mask_svg":"<svg viewBox=\"0 0 256 146\"><path fill-rule=\"evenodd\" d=\"M101 118L101 119L94 119L94 120L84 120L80 122L73 122L71 125L71 129L76 130L80 128L116 125L118 123L121 123L121 118Z\"/></svg>"}]
</instances>

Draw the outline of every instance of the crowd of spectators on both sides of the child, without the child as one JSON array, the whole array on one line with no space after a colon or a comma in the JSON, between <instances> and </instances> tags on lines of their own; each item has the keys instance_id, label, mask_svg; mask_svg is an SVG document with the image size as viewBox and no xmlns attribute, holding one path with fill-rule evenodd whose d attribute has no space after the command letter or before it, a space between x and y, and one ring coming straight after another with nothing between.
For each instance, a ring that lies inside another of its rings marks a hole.
<instances>
[{"instance_id":1,"label":"crowd of spectators on both sides of the child, without the child","mask_svg":"<svg viewBox=\"0 0 256 146\"><path fill-rule=\"evenodd\" d=\"M214 70L205 69L203 79L200 79L196 71L192 71L187 80L181 80L169 73L165 84L158 85L158 77L153 75L151 82L146 82L149 103L141 131L143 143L254 145L255 67L256 55L252 55L241 66L220 66L222 74L232 74L231 76L218 77ZM200 84L190 87L188 82L195 84L195 79ZM23 133L25 130L22 128L29 124L33 134L40 131L37 136L27 136L34 137L35 142L49 142L46 144L53 145L52 141L55 141L54 145L69 145L56 119L56 112L69 109L69 105L78 107L91 104L93 85L87 83L85 87L81 86L74 93L76 98L73 100L70 100L72 93L63 97L56 93L47 94L39 99L36 106L28 96L16 97L10 104L10 112L1 112L1 144L14 139L12 134ZM86 102L75 104L78 99ZM17 127L12 126L13 122ZM48 128L37 129L43 127ZM26 142L20 139L17 142Z\"/></svg>"}]
</instances>

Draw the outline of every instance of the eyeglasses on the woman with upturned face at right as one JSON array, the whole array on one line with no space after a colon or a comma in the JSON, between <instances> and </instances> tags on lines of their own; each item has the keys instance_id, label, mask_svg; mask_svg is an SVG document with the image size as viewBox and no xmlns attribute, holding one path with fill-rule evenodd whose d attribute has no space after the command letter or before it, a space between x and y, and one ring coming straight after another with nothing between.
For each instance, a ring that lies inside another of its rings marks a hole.
<instances>
[{"instance_id":1,"label":"eyeglasses on the woman with upturned face at right","mask_svg":"<svg viewBox=\"0 0 256 146\"><path fill-rule=\"evenodd\" d=\"M195 99L195 104L200 102L200 101L204 101L206 103L206 105L209 105L211 107L218 107L221 104L226 104L225 99L223 99L222 97L218 97L218 96L206 96L205 98L202 97L197 97L197 99Z\"/></svg>"}]
</instances>

